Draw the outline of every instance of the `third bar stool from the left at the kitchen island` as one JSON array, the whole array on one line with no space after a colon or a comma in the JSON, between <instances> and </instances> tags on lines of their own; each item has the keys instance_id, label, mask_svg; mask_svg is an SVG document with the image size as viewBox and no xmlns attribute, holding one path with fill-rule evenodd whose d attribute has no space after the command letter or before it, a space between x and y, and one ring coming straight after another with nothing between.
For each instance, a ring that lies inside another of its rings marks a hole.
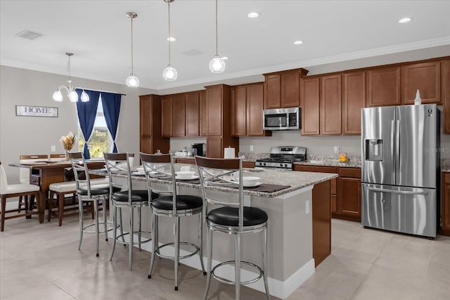
<instances>
[{"instance_id":1,"label":"third bar stool from the left at the kitchen island","mask_svg":"<svg viewBox=\"0 0 450 300\"><path fill-rule=\"evenodd\" d=\"M153 240L152 240L152 256L150 260L150 270L148 270L148 278L152 278L153 266L155 266L155 256L160 256L165 259L174 260L175 269L175 290L178 290L178 267L180 259L187 259L195 254L200 256L200 264L202 266L203 275L206 275L205 266L203 265L203 220L202 209L203 200L201 197L193 195L178 195L176 193L176 176L174 172L174 162L172 156L169 154L155 154L150 155L141 153L141 161L144 171L146 173L146 180L148 184L149 193L158 192L160 197L155 197L150 202L152 208L152 223L153 223ZM169 192L155 190L152 188L153 177L166 176L168 180L172 180L172 190ZM163 195L163 194L172 195ZM191 242L180 242L180 216L195 216L198 215L198 245ZM175 218L175 233L174 242L167 244L158 243L158 218L160 216L168 216ZM180 244L186 244L194 248L194 251L180 256ZM163 255L160 249L167 246L174 246L174 256Z\"/></svg>"}]
</instances>

